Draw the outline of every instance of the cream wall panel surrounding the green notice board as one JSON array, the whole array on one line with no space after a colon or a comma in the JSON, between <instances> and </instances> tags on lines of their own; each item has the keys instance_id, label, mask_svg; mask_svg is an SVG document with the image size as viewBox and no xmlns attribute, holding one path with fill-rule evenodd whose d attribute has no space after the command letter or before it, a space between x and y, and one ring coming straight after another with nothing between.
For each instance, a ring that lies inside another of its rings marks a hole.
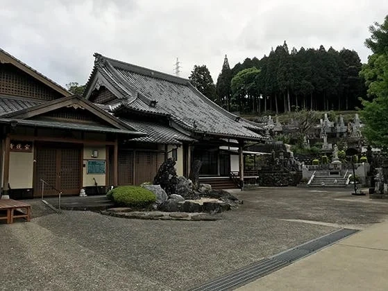
<instances>
[{"instance_id":1,"label":"cream wall panel surrounding the green notice board","mask_svg":"<svg viewBox=\"0 0 388 291\"><path fill-rule=\"evenodd\" d=\"M93 150L98 150L99 157L93 158L92 152ZM105 146L87 146L85 145L83 148L83 187L86 186L94 186L94 179L98 186L106 186L106 174L87 174L87 161L88 160L105 160L106 161L106 147ZM107 163L106 163L107 164ZM106 169L107 170L107 169Z\"/></svg>"}]
</instances>

